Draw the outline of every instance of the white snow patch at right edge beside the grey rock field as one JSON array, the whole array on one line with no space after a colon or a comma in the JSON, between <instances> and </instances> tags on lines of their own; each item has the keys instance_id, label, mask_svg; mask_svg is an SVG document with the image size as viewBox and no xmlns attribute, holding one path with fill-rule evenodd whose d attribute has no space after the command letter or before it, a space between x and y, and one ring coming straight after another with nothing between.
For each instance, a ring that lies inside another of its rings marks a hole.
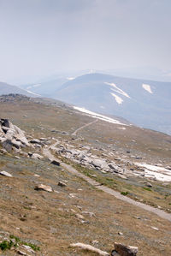
<instances>
[{"instance_id":1,"label":"white snow patch at right edge beside the grey rock field","mask_svg":"<svg viewBox=\"0 0 171 256\"><path fill-rule=\"evenodd\" d=\"M155 178L157 181L161 182L171 182L171 170L151 164L135 164L145 168L144 176L146 178Z\"/></svg>"}]
</instances>

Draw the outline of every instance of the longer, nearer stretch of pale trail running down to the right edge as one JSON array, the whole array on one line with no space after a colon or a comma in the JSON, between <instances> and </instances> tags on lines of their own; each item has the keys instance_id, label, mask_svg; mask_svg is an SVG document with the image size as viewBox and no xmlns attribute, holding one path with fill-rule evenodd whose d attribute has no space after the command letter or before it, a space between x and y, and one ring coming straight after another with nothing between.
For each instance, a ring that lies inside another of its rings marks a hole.
<instances>
[{"instance_id":1,"label":"longer, nearer stretch of pale trail running down to the right edge","mask_svg":"<svg viewBox=\"0 0 171 256\"><path fill-rule=\"evenodd\" d=\"M168 221L171 222L171 214L167 213L166 211L162 211L160 209L157 209L155 207L152 207L150 205L145 205L143 203L140 203L138 201L135 201L133 199L130 199L129 197L127 196L124 196L122 195L121 193L111 189L111 188L108 188L106 186L103 186L101 185L99 182L96 182L94 181L93 179L91 179L90 177L88 176L85 176L84 174L80 173L78 170L74 169L71 165L69 164L64 164L62 163L61 160L59 160L58 158L55 158L52 153L50 152L50 149L55 149L56 145L58 144L58 142L56 142L54 145L52 146L49 146L47 148L44 148L43 149L43 153L44 153L44 156L46 156L47 158L51 160L56 160L58 161L61 166L65 169L65 170L68 170L68 172L70 172L71 174L73 174L74 176L78 176L82 179L84 179L86 182L88 182L89 184L91 184L93 187L99 189L99 190L102 190L103 192L105 193L109 193L110 195L112 196L115 196L116 199L121 199L122 201L125 201L131 205L135 205L135 206L138 206L146 211L150 211L150 212L153 212L155 213L156 215L158 215L159 217L162 217Z\"/></svg>"}]
</instances>

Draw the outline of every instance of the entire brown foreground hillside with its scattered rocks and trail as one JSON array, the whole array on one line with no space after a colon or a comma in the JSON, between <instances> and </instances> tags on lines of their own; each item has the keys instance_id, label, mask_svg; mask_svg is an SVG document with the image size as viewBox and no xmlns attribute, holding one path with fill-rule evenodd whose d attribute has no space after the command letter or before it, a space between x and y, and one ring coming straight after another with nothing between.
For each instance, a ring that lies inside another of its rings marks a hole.
<instances>
[{"instance_id":1,"label":"entire brown foreground hillside with its scattered rocks and trail","mask_svg":"<svg viewBox=\"0 0 171 256\"><path fill-rule=\"evenodd\" d=\"M2 255L98 255L77 242L110 255L114 241L169 255L169 135L44 98L0 108L0 245L18 242Z\"/></svg>"}]
</instances>

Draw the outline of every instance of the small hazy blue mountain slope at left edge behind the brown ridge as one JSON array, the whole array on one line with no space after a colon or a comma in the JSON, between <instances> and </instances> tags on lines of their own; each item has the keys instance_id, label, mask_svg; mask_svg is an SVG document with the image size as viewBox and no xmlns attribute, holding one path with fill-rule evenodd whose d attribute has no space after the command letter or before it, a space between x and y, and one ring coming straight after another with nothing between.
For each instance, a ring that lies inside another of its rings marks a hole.
<instances>
[{"instance_id":1,"label":"small hazy blue mountain slope at left edge behind the brown ridge","mask_svg":"<svg viewBox=\"0 0 171 256\"><path fill-rule=\"evenodd\" d=\"M26 95L28 97L38 97L38 94L36 95L33 92L29 92L29 91L21 89L17 86L11 86L7 83L0 82L0 95L5 95L5 94L9 94L9 93L22 94L22 95Z\"/></svg>"}]
</instances>

